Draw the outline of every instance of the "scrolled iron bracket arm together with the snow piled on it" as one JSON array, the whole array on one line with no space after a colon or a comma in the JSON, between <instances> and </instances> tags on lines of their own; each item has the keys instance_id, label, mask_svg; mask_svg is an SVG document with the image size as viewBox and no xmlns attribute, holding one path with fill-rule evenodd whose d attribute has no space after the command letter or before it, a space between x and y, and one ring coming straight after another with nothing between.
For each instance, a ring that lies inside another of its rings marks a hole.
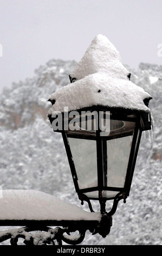
<instances>
[{"instance_id":1,"label":"scrolled iron bracket arm together with the snow piled on it","mask_svg":"<svg viewBox=\"0 0 162 256\"><path fill-rule=\"evenodd\" d=\"M0 225L14 226L0 232L0 242L10 239L11 245L17 245L19 238L25 245L62 245L62 241L77 245L87 230L105 237L112 225L111 217L86 212L40 191L4 190L0 200Z\"/></svg>"}]
</instances>

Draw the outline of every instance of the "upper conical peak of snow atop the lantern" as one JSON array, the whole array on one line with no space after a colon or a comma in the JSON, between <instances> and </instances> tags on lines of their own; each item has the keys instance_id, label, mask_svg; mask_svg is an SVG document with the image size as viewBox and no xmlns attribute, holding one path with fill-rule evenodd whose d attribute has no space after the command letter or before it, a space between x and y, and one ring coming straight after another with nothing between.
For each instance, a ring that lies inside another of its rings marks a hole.
<instances>
[{"instance_id":1,"label":"upper conical peak of snow atop the lantern","mask_svg":"<svg viewBox=\"0 0 162 256\"><path fill-rule=\"evenodd\" d=\"M106 72L113 77L124 79L129 75L121 63L120 53L106 36L101 34L95 36L70 78L80 80L96 72Z\"/></svg>"}]
</instances>

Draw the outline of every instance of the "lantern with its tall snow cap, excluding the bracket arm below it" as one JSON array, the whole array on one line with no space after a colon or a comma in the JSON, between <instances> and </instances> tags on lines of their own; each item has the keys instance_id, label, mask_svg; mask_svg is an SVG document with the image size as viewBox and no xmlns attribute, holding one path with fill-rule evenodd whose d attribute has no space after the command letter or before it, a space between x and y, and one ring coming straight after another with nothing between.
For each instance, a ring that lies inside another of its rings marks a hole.
<instances>
[{"instance_id":1,"label":"lantern with its tall snow cap, excluding the bracket arm below it","mask_svg":"<svg viewBox=\"0 0 162 256\"><path fill-rule=\"evenodd\" d=\"M130 77L115 47L99 35L69 75L70 84L49 99L48 117L62 133L76 193L91 212L91 200L98 200L109 221L129 196L141 133L153 124L152 97ZM113 200L109 212L107 200Z\"/></svg>"}]
</instances>

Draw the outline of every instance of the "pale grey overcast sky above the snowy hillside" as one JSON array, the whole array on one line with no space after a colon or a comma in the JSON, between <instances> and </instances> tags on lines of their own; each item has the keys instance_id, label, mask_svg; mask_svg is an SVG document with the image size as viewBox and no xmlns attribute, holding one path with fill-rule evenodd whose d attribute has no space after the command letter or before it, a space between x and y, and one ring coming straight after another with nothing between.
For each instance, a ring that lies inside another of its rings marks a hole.
<instances>
[{"instance_id":1,"label":"pale grey overcast sky above the snowy hillside","mask_svg":"<svg viewBox=\"0 0 162 256\"><path fill-rule=\"evenodd\" d=\"M82 58L103 34L122 63L162 65L161 0L0 0L0 92L49 59Z\"/></svg>"}]
</instances>

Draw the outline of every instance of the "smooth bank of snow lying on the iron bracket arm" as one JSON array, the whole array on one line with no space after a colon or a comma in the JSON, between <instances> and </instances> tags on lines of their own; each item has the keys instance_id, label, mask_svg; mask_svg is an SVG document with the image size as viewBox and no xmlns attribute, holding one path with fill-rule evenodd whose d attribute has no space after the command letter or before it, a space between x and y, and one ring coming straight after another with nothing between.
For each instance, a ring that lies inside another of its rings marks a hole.
<instances>
[{"instance_id":1,"label":"smooth bank of snow lying on the iron bracket arm","mask_svg":"<svg viewBox=\"0 0 162 256\"><path fill-rule=\"evenodd\" d=\"M3 190L0 220L94 220L99 212L87 212L74 204L35 190Z\"/></svg>"}]
</instances>

